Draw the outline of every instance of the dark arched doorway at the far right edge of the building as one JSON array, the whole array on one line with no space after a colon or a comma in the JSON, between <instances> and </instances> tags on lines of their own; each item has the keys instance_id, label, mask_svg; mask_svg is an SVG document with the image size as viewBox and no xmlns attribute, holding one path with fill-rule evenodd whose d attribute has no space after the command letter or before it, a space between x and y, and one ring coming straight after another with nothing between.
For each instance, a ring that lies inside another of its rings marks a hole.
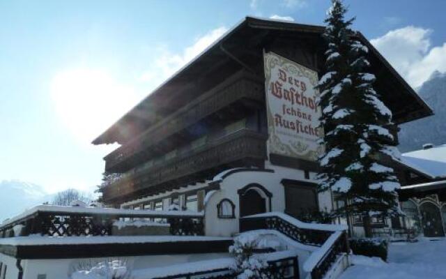
<instances>
[{"instance_id":1,"label":"dark arched doorway at the far right edge of the building","mask_svg":"<svg viewBox=\"0 0 446 279\"><path fill-rule=\"evenodd\" d=\"M420 214L422 217L424 236L445 236L445 232L443 231L443 222L441 220L441 213L438 206L432 202L424 202L420 205Z\"/></svg>"}]
</instances>

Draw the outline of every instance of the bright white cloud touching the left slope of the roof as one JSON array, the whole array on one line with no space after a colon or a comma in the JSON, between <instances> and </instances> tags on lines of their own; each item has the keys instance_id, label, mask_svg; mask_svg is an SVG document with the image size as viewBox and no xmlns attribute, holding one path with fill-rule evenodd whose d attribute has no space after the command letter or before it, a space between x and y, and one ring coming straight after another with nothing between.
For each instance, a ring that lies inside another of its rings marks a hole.
<instances>
[{"instance_id":1,"label":"bright white cloud touching the left slope of the roof","mask_svg":"<svg viewBox=\"0 0 446 279\"><path fill-rule=\"evenodd\" d=\"M206 47L220 38L228 29L219 27L204 36L201 36L190 47L186 47L183 53L174 54L165 46L157 47L158 58L151 62L151 66L141 74L142 82L150 82L153 86L166 80L186 63L194 59L195 56L206 50Z\"/></svg>"}]
</instances>

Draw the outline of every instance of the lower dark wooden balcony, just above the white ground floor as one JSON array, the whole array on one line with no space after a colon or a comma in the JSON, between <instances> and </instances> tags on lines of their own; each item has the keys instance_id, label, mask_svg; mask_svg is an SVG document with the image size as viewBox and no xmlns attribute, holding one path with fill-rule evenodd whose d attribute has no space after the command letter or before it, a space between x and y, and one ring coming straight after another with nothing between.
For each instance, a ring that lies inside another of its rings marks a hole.
<instances>
[{"instance_id":1,"label":"lower dark wooden balcony, just above the white ground floor","mask_svg":"<svg viewBox=\"0 0 446 279\"><path fill-rule=\"evenodd\" d=\"M195 149L179 150L171 159L128 174L102 188L107 203L142 197L211 178L229 167L263 167L267 135L242 129Z\"/></svg>"}]
</instances>

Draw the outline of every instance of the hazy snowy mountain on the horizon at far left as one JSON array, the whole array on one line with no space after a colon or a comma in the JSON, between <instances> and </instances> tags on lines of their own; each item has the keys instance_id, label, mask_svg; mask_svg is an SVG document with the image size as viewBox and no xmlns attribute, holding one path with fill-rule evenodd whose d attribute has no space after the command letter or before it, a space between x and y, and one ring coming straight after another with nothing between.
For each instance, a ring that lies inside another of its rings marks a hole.
<instances>
[{"instance_id":1,"label":"hazy snowy mountain on the horizon at far left","mask_svg":"<svg viewBox=\"0 0 446 279\"><path fill-rule=\"evenodd\" d=\"M51 201L52 197L36 184L18 180L3 180L0 182L0 223L43 202Z\"/></svg>"}]
</instances>

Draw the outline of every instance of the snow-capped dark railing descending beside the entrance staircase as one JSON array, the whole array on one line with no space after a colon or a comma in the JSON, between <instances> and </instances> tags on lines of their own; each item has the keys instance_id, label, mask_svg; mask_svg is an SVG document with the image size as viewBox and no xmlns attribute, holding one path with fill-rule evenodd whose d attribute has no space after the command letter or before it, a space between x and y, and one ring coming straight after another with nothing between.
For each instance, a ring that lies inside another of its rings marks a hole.
<instances>
[{"instance_id":1,"label":"snow-capped dark railing descending beside the entrance staircase","mask_svg":"<svg viewBox=\"0 0 446 279\"><path fill-rule=\"evenodd\" d=\"M349 250L345 225L304 223L280 212L240 218L240 232L254 229L275 229L299 243L318 246L304 264L312 279L324 278L337 258Z\"/></svg>"}]
</instances>

